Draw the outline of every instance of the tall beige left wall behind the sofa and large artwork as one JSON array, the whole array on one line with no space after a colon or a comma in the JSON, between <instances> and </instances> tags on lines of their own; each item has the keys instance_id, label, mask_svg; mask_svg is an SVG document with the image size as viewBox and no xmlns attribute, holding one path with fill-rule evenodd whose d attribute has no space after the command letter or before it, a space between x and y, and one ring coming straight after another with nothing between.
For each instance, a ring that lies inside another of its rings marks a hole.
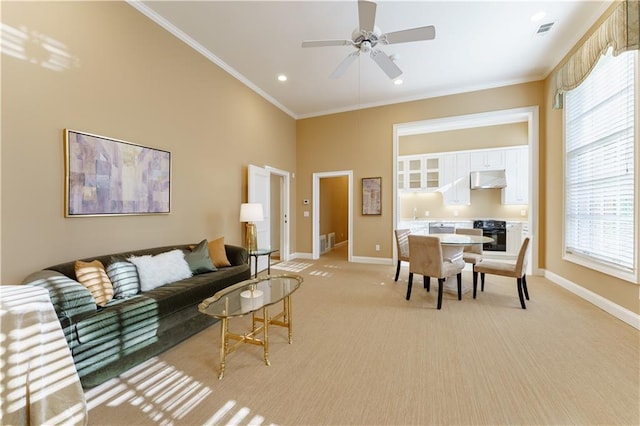
<instances>
[{"instance_id":1,"label":"tall beige left wall behind the sofa and large artwork","mask_svg":"<svg viewBox=\"0 0 640 426\"><path fill-rule=\"evenodd\" d=\"M2 55L2 284L78 257L241 245L247 164L296 171L295 120L128 4L3 2L2 22L73 58L47 69L35 42ZM65 218L64 128L171 151L171 214Z\"/></svg>"}]
</instances>

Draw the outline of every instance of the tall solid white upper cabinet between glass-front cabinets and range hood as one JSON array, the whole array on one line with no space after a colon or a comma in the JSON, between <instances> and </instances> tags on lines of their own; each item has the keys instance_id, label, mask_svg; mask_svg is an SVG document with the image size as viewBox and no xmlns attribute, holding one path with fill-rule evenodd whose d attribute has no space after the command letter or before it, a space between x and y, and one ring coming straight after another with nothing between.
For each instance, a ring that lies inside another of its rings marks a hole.
<instances>
[{"instance_id":1,"label":"tall solid white upper cabinet between glass-front cabinets and range hood","mask_svg":"<svg viewBox=\"0 0 640 426\"><path fill-rule=\"evenodd\" d=\"M468 206L471 204L469 157L468 153L442 156L440 191L445 205Z\"/></svg>"}]
</instances>

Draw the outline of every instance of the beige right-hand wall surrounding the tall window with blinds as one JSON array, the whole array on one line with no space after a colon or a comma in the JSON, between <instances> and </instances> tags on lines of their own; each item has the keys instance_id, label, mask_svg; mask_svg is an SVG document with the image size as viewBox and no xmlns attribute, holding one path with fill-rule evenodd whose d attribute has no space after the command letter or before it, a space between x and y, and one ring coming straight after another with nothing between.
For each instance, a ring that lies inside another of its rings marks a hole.
<instances>
[{"instance_id":1,"label":"beige right-hand wall surrounding the tall window with blinds","mask_svg":"<svg viewBox=\"0 0 640 426\"><path fill-rule=\"evenodd\" d=\"M614 5L615 6L615 5ZM607 16L605 13L604 16ZM598 23L596 23L598 25ZM590 34L587 33L585 37ZM581 43L578 43L579 46ZM575 50L575 49L574 49ZM555 71L555 70L554 70ZM585 289L592 291L612 302L629 309L636 314L640 313L639 286L624 280L611 277L589 268L567 262L562 259L563 245L563 112L552 109L554 93L552 92L553 73L545 80L545 105L546 108L546 139L545 150L541 153L541 173L545 176L547 190L545 191L545 211L541 215L545 217L545 245L544 252L546 269L557 274ZM640 123L640 108L636 108ZM636 138L638 141L638 138ZM636 144L636 158L640 156L640 146ZM638 171L636 170L636 173ZM635 189L636 208L638 208L638 188ZM637 217L637 216L636 216ZM636 259L636 265L640 265L640 253Z\"/></svg>"}]
</instances>

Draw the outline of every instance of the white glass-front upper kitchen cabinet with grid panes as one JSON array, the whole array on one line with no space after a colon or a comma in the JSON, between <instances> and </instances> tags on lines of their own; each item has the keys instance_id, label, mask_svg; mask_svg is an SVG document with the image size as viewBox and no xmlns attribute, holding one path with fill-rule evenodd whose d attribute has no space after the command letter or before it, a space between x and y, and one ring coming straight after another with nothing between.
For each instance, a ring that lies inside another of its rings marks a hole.
<instances>
[{"instance_id":1,"label":"white glass-front upper kitchen cabinet with grid panes","mask_svg":"<svg viewBox=\"0 0 640 426\"><path fill-rule=\"evenodd\" d=\"M440 184L440 156L399 157L397 182L401 190L435 191Z\"/></svg>"}]
</instances>

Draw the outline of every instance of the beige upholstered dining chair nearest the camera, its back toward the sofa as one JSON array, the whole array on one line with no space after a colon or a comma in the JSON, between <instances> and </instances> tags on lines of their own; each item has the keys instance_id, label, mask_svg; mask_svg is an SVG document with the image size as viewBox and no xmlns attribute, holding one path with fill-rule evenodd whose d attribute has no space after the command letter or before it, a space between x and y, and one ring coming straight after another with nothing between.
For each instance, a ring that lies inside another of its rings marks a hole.
<instances>
[{"instance_id":1,"label":"beige upholstered dining chair nearest the camera, its back toward the sofa","mask_svg":"<svg viewBox=\"0 0 640 426\"><path fill-rule=\"evenodd\" d=\"M428 235L409 235L409 285L407 286L407 300L411 298L413 274L423 277L424 287L429 291L431 277L438 279L438 309L442 308L442 292L444 280L454 275L458 278L458 300L462 296L462 257L451 260L442 254L442 245L438 237Z\"/></svg>"}]
</instances>

